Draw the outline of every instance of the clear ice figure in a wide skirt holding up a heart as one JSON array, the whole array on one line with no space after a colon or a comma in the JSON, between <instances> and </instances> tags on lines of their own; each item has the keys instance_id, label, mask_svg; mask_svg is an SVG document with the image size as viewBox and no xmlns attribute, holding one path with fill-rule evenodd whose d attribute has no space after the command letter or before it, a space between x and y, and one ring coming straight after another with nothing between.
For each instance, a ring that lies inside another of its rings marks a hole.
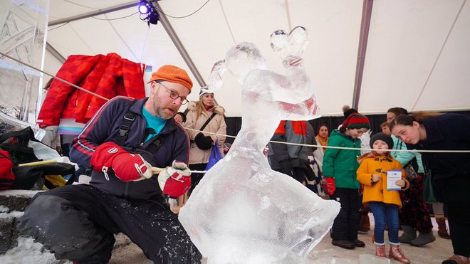
<instances>
[{"instance_id":1,"label":"clear ice figure in a wide skirt holding up a heart","mask_svg":"<svg viewBox=\"0 0 470 264\"><path fill-rule=\"evenodd\" d=\"M209 90L228 69L242 88L242 125L226 157L204 176L179 221L207 263L303 263L333 224L340 205L271 170L263 149L281 120L310 120L318 107L301 54L305 28L275 31L271 47L286 75L266 69L252 43L214 65Z\"/></svg>"}]
</instances>

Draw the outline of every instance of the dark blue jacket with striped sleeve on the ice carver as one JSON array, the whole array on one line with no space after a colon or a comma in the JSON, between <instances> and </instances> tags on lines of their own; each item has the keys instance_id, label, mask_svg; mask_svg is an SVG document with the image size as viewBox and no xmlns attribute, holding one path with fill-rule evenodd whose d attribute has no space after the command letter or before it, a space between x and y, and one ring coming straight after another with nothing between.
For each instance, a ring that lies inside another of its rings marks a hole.
<instances>
[{"instance_id":1,"label":"dark blue jacket with striped sleeve on the ice carver","mask_svg":"<svg viewBox=\"0 0 470 264\"><path fill-rule=\"evenodd\" d=\"M91 155L94 149L104 142L116 142L119 127L127 112L135 113L124 146L130 149L146 149L153 140L144 142L145 118L142 115L142 107L148 98L137 100L130 97L114 97L103 105L95 116L85 125L83 131L75 139L71 149L71 161L78 163L80 167L90 167ZM164 168L171 166L173 160L188 163L189 159L189 137L187 132L174 119L167 120L167 124L160 132L164 139L163 144L157 152L153 153L155 158L148 162L154 167ZM161 201L162 191L157 182L157 176L142 181L121 181L113 173L109 173L109 181L105 179L102 172L93 171L90 184L115 196L120 196L131 201L152 199Z\"/></svg>"}]
</instances>

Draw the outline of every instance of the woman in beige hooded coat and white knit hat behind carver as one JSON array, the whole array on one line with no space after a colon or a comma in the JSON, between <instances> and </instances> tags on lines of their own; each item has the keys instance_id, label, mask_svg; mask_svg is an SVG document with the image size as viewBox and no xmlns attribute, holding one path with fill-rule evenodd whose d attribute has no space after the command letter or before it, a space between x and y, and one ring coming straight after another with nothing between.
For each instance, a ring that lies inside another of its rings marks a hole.
<instances>
[{"instance_id":1,"label":"woman in beige hooded coat and white knit hat behind carver","mask_svg":"<svg viewBox=\"0 0 470 264\"><path fill-rule=\"evenodd\" d=\"M216 140L219 142L220 154L222 156L224 155L224 135L226 134L224 112L224 107L214 104L214 93L207 93L205 90L201 90L201 93L199 93L199 101L189 102L186 115L187 120L184 123L184 127L193 129L187 130L189 139L191 140L189 169L197 171L206 169L212 147L214 147ZM213 114L215 114L214 117L212 117L209 123L207 123L207 126L204 127L203 132L194 131L201 130L201 127ZM204 132L216 133L217 135ZM202 176L204 176L204 174L191 174L192 183L189 193L197 186Z\"/></svg>"}]
</instances>

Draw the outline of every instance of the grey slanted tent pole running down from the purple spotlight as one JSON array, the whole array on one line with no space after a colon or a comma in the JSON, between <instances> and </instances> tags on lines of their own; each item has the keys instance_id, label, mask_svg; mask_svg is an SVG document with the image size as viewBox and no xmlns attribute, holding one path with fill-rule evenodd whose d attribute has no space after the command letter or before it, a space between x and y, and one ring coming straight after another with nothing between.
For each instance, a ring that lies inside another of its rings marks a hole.
<instances>
[{"instance_id":1,"label":"grey slanted tent pole running down from the purple spotlight","mask_svg":"<svg viewBox=\"0 0 470 264\"><path fill-rule=\"evenodd\" d=\"M160 6L160 4L158 4L157 1L154 1L153 4L157 8L157 10L159 11L162 10L162 7ZM169 38L172 39L174 46L179 51L179 54L183 57L184 62L189 67L189 70L191 70L192 74L194 75L194 78L196 78L197 83L199 83L201 87L206 86L206 82L202 78L201 73L199 73L199 70L197 70L196 65L194 65L191 57L187 53L186 48L184 48L183 43L179 40L177 33L174 32L172 24L169 23L167 16L165 16L165 14L161 14L161 13L159 14L160 14L160 23L162 23L164 30L167 31Z\"/></svg>"}]
</instances>

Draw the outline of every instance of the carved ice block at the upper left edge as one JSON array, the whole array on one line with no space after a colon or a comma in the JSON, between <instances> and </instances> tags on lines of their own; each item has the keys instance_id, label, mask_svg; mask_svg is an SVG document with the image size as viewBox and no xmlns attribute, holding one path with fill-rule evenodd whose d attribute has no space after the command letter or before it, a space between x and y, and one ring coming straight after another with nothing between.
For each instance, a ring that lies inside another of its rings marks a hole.
<instances>
[{"instance_id":1,"label":"carved ice block at the upper left edge","mask_svg":"<svg viewBox=\"0 0 470 264\"><path fill-rule=\"evenodd\" d=\"M0 52L43 68L48 30L48 0L0 1ZM0 123L36 124L42 74L0 54Z\"/></svg>"}]
</instances>

